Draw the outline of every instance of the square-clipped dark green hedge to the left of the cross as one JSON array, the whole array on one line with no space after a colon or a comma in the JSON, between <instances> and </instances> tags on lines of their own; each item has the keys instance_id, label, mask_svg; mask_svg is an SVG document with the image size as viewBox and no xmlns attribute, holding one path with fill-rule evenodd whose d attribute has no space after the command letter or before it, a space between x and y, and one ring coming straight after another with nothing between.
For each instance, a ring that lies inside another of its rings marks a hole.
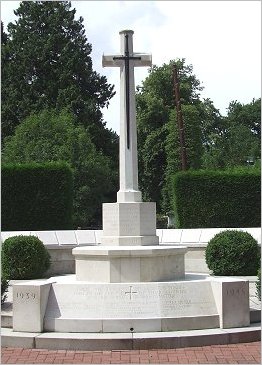
<instances>
[{"instance_id":1,"label":"square-clipped dark green hedge to the left of the cross","mask_svg":"<svg viewBox=\"0 0 262 365\"><path fill-rule=\"evenodd\" d=\"M73 180L65 163L2 166L2 230L72 228Z\"/></svg>"}]
</instances>

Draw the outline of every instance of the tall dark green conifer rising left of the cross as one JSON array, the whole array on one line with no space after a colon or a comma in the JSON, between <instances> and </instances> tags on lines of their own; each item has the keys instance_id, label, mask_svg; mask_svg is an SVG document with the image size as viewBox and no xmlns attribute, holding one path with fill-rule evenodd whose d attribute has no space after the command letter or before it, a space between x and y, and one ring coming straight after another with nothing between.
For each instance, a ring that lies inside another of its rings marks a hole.
<instances>
[{"instance_id":1,"label":"tall dark green conifer rising left of the cross","mask_svg":"<svg viewBox=\"0 0 262 365\"><path fill-rule=\"evenodd\" d=\"M18 18L2 36L2 138L31 113L66 107L97 150L112 156L117 142L100 109L113 86L92 69L83 18L76 20L70 8L70 1L22 1L14 11Z\"/></svg>"}]
</instances>

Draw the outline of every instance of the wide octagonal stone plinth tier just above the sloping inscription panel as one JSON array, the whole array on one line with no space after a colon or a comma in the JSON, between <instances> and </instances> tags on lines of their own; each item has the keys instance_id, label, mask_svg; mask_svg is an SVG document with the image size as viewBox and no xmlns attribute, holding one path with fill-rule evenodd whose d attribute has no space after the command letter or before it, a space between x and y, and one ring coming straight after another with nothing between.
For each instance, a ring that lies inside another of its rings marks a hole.
<instances>
[{"instance_id":1,"label":"wide octagonal stone plinth tier just above the sloping inscription panel","mask_svg":"<svg viewBox=\"0 0 262 365\"><path fill-rule=\"evenodd\" d=\"M102 283L153 282L183 279L185 253L179 247L77 247L76 280Z\"/></svg>"}]
</instances>

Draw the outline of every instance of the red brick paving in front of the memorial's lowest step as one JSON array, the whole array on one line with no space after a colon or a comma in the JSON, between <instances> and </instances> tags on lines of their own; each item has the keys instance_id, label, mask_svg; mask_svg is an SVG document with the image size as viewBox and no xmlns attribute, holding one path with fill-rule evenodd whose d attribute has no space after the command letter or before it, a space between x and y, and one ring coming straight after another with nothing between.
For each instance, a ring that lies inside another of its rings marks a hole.
<instances>
[{"instance_id":1,"label":"red brick paving in front of the memorial's lowest step","mask_svg":"<svg viewBox=\"0 0 262 365\"><path fill-rule=\"evenodd\" d=\"M2 348L2 364L260 364L261 343L170 350L49 351Z\"/></svg>"}]
</instances>

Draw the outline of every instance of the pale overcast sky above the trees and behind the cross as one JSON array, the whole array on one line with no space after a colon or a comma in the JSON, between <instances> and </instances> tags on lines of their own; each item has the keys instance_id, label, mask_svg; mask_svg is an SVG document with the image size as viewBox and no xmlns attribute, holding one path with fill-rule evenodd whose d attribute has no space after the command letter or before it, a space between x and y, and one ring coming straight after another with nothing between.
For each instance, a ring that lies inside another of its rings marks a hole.
<instances>
[{"instance_id":1,"label":"pale overcast sky above the trees and behind the cross","mask_svg":"<svg viewBox=\"0 0 262 365\"><path fill-rule=\"evenodd\" d=\"M1 1L6 26L16 19L19 1ZM117 94L104 119L119 132L119 69L102 68L102 55L120 52L119 31L134 31L134 51L152 53L153 64L185 58L222 115L232 100L243 104L261 96L260 1L72 1L84 18L92 44L93 68L106 75ZM135 69L141 85L148 69Z\"/></svg>"}]
</instances>

